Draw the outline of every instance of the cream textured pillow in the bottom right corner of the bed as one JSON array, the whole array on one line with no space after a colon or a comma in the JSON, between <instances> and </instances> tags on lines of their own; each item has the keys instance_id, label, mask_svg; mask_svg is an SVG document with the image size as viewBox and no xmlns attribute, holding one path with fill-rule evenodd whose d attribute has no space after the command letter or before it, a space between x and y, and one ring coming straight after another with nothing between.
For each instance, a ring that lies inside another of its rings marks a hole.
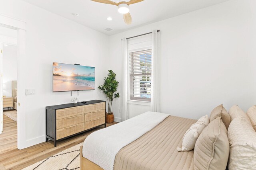
<instances>
[{"instance_id":1,"label":"cream textured pillow in the bottom right corner of the bed","mask_svg":"<svg viewBox=\"0 0 256 170\"><path fill-rule=\"evenodd\" d=\"M228 169L256 169L256 132L246 117L236 117L228 129L230 155Z\"/></svg>"}]
</instances>

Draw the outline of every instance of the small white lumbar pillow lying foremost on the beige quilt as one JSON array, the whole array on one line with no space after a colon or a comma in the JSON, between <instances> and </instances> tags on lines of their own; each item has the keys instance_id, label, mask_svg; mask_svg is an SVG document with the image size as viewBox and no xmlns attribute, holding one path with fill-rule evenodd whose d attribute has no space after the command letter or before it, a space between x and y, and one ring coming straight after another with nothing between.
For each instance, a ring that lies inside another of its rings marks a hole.
<instances>
[{"instance_id":1,"label":"small white lumbar pillow lying foremost on the beige quilt","mask_svg":"<svg viewBox=\"0 0 256 170\"><path fill-rule=\"evenodd\" d=\"M204 128L210 123L208 115L205 115L198 119L196 123L190 126L182 138L182 148L177 148L180 151L189 151L194 149L196 140Z\"/></svg>"}]
</instances>

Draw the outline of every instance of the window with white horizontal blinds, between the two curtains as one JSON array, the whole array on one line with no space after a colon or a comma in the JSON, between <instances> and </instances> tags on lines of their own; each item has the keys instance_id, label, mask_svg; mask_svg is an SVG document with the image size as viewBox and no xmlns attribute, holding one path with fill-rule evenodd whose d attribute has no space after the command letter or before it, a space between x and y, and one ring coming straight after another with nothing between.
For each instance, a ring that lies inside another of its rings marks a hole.
<instances>
[{"instance_id":1,"label":"window with white horizontal blinds, between the two curtains","mask_svg":"<svg viewBox=\"0 0 256 170\"><path fill-rule=\"evenodd\" d=\"M129 53L130 100L151 100L151 57L152 50Z\"/></svg>"}]
</instances>

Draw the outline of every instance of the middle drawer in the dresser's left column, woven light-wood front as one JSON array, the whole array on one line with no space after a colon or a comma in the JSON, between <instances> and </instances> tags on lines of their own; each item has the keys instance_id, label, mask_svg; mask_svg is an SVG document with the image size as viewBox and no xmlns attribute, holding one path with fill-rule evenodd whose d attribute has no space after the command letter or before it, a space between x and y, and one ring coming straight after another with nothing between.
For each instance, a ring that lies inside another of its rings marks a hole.
<instances>
[{"instance_id":1,"label":"middle drawer in the dresser's left column, woven light-wood front","mask_svg":"<svg viewBox=\"0 0 256 170\"><path fill-rule=\"evenodd\" d=\"M77 115L77 116L71 116L66 117L63 119L57 119L56 120L56 129L62 129L64 127L69 127L72 125L77 125L79 123L84 123L84 114Z\"/></svg>"}]
</instances>

